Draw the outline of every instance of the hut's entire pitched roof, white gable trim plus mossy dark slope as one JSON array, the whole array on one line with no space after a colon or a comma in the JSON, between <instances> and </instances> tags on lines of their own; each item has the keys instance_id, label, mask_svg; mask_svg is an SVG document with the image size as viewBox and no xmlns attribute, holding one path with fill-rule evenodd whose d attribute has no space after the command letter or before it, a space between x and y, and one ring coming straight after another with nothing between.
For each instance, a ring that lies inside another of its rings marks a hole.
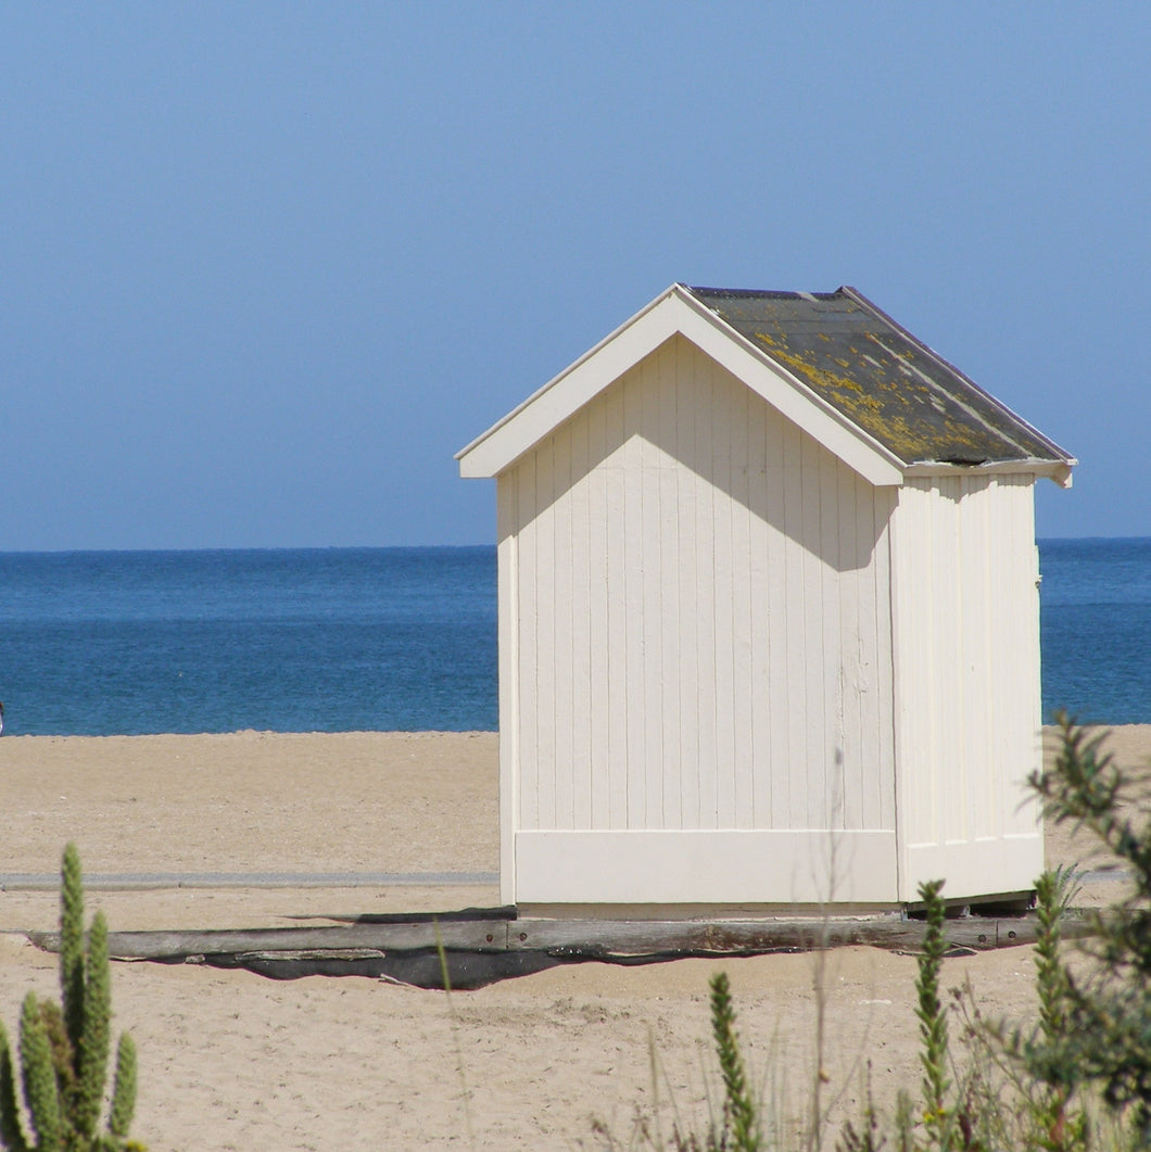
<instances>
[{"instance_id":1,"label":"hut's entire pitched roof, white gable trim plus mossy dark slope","mask_svg":"<svg viewBox=\"0 0 1151 1152\"><path fill-rule=\"evenodd\" d=\"M459 454L497 476L660 343L682 334L873 484L940 469L1077 461L854 288L673 285Z\"/></svg>"}]
</instances>

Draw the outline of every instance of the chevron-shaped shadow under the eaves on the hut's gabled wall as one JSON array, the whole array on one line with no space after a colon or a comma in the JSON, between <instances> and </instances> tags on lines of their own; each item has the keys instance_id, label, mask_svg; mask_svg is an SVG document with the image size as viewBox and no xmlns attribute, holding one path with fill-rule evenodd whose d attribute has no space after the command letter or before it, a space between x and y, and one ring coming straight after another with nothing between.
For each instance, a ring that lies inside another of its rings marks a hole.
<instances>
[{"instance_id":1,"label":"chevron-shaped shadow under the eaves on the hut's gabled wall","mask_svg":"<svg viewBox=\"0 0 1151 1152\"><path fill-rule=\"evenodd\" d=\"M697 514L698 488L687 491L687 469L841 574L871 563L895 509L896 488L870 484L676 335L515 465L532 471L522 482L532 499L520 503L510 530L521 531L596 471L615 499L627 500L637 462L644 517L667 523ZM674 508L664 507L668 499Z\"/></svg>"}]
</instances>

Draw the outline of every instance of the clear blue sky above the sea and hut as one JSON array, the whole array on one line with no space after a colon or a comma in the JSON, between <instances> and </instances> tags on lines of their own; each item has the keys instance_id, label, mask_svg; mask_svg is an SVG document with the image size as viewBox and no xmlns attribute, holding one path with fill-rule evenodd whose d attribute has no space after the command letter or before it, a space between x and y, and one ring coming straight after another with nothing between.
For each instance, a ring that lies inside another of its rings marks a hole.
<instances>
[{"instance_id":1,"label":"clear blue sky above the sea and hut","mask_svg":"<svg viewBox=\"0 0 1151 1152\"><path fill-rule=\"evenodd\" d=\"M673 281L850 283L1151 536L1137 3L0 14L0 550L469 544L453 454Z\"/></svg>"}]
</instances>

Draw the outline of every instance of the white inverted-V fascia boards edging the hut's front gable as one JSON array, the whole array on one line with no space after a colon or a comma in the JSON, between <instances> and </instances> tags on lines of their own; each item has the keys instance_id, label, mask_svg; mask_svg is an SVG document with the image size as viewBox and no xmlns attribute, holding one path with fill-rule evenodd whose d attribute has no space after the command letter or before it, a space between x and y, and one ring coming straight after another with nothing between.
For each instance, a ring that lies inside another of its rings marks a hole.
<instances>
[{"instance_id":1,"label":"white inverted-V fascia boards edging the hut's front gable","mask_svg":"<svg viewBox=\"0 0 1151 1152\"><path fill-rule=\"evenodd\" d=\"M462 449L456 455L460 475L498 476L628 369L676 334L691 341L871 484L902 484L904 465L898 456L680 285L668 288Z\"/></svg>"}]
</instances>

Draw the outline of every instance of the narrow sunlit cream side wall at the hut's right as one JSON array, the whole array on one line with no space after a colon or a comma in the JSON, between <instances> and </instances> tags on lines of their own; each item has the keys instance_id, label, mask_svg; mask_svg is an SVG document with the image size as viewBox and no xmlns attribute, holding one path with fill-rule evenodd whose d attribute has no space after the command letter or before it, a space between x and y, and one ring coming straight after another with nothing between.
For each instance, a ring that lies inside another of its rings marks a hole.
<instances>
[{"instance_id":1,"label":"narrow sunlit cream side wall at the hut's right","mask_svg":"<svg viewBox=\"0 0 1151 1152\"><path fill-rule=\"evenodd\" d=\"M1029 888L1042 839L1039 634L1029 475L917 477L892 533L902 897Z\"/></svg>"}]
</instances>

